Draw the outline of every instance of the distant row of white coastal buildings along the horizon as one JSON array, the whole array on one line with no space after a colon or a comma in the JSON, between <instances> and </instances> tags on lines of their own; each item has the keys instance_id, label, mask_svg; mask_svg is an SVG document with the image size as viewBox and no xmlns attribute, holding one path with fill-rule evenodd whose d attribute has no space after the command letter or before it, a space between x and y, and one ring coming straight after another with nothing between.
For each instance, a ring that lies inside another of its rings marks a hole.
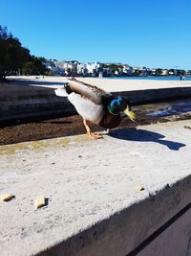
<instances>
[{"instance_id":1,"label":"distant row of white coastal buildings along the horizon","mask_svg":"<svg viewBox=\"0 0 191 256\"><path fill-rule=\"evenodd\" d=\"M147 76L182 76L191 75L191 70L160 69L149 67L133 67L124 63L82 63L77 60L46 59L43 62L49 75L82 76L82 77L147 77Z\"/></svg>"}]
</instances>

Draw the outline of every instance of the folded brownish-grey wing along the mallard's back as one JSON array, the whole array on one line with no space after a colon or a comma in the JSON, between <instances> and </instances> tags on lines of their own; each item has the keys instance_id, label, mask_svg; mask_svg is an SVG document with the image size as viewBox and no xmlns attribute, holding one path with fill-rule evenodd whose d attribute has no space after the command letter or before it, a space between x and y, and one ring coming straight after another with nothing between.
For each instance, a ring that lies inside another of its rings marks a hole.
<instances>
[{"instance_id":1,"label":"folded brownish-grey wing along the mallard's back","mask_svg":"<svg viewBox=\"0 0 191 256\"><path fill-rule=\"evenodd\" d=\"M81 97L87 98L96 105L107 105L113 99L111 93L104 91L94 85L76 79L68 79L70 88Z\"/></svg>"}]
</instances>

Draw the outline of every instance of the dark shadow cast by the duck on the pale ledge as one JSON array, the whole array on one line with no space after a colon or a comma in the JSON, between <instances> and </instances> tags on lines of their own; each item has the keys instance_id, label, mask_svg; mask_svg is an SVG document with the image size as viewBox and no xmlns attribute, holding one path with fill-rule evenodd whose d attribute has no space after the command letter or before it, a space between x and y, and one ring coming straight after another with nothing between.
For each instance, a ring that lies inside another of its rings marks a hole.
<instances>
[{"instance_id":1,"label":"dark shadow cast by the duck on the pale ledge","mask_svg":"<svg viewBox=\"0 0 191 256\"><path fill-rule=\"evenodd\" d=\"M179 151L181 147L186 145L180 142L164 140L164 135L149 131L141 128L122 128L110 130L109 136L128 141L139 141L139 142L155 142L163 146L166 146L171 151Z\"/></svg>"}]
</instances>

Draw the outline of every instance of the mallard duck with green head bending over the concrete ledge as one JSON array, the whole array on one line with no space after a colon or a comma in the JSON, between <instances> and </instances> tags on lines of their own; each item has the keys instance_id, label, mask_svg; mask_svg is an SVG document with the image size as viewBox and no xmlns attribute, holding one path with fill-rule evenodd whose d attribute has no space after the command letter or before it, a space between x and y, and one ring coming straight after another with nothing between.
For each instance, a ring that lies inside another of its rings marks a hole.
<instances>
[{"instance_id":1,"label":"mallard duck with green head bending over the concrete ledge","mask_svg":"<svg viewBox=\"0 0 191 256\"><path fill-rule=\"evenodd\" d=\"M92 122L101 128L117 128L126 114L132 121L136 115L132 111L129 101L121 96L114 96L96 86L76 79L68 79L64 87L55 89L57 96L68 96L78 114L83 118L83 124L90 138L101 138L93 133L88 122ZM124 114L123 114L124 113Z\"/></svg>"}]
</instances>

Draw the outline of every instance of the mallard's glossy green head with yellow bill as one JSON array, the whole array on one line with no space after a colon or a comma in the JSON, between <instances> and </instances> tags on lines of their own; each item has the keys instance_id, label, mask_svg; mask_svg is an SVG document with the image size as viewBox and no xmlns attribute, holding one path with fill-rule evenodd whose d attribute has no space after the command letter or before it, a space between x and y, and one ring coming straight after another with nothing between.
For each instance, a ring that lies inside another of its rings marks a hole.
<instances>
[{"instance_id":1,"label":"mallard's glossy green head with yellow bill","mask_svg":"<svg viewBox=\"0 0 191 256\"><path fill-rule=\"evenodd\" d=\"M136 114L132 111L129 101L121 96L111 101L108 105L108 110L114 115L118 115L120 112L125 113L132 121L136 120Z\"/></svg>"}]
</instances>

